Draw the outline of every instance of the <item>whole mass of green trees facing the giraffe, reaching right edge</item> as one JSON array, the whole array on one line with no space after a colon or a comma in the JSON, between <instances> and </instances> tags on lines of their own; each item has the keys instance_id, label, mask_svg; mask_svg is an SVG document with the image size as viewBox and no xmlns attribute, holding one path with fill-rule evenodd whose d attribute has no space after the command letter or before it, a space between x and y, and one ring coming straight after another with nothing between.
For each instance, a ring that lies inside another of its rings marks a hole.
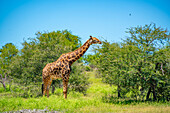
<instances>
[{"instance_id":1,"label":"whole mass of green trees facing the giraffe, reaching right edge","mask_svg":"<svg viewBox=\"0 0 170 113\"><path fill-rule=\"evenodd\" d=\"M169 100L169 32L155 24L132 27L123 43L103 41L94 58L103 82L117 86L118 97ZM94 62L95 61L95 62ZM149 90L151 88L151 91Z\"/></svg>"}]
</instances>

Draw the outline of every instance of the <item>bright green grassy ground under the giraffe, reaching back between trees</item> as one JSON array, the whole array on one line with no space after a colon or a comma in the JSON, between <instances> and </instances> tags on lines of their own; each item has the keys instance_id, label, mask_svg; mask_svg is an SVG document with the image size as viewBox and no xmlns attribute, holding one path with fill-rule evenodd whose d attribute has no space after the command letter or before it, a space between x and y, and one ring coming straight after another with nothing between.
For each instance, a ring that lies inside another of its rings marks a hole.
<instances>
[{"instance_id":1,"label":"bright green grassy ground under the giraffe, reaching back between trees","mask_svg":"<svg viewBox=\"0 0 170 113\"><path fill-rule=\"evenodd\" d=\"M49 109L59 112L118 112L118 113L169 113L170 103L140 102L131 104L106 103L102 97L116 91L116 87L101 82L90 72L91 82L87 95L69 92L68 99L64 99L62 89L57 89L55 95L49 98L11 98L0 97L0 112L17 111L21 109Z\"/></svg>"}]
</instances>

